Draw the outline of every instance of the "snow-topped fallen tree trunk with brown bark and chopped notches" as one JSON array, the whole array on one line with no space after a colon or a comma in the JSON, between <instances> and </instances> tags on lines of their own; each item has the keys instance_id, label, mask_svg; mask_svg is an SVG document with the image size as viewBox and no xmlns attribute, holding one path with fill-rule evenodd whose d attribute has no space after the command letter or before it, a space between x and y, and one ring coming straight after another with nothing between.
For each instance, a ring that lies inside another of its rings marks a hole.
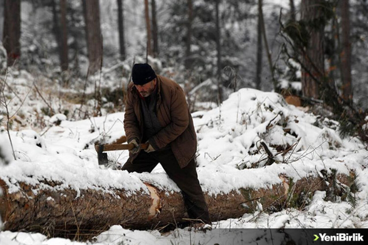
<instances>
[{"instance_id":1,"label":"snow-topped fallen tree trunk with brown bark and chopped notches","mask_svg":"<svg viewBox=\"0 0 368 245\"><path fill-rule=\"evenodd\" d=\"M280 183L269 188L244 187L217 195L205 193L212 221L253 213L257 202L262 204L263 210L280 210L287 206L285 204L291 197L295 199L300 193L311 196L316 190L328 188L326 179L322 177L297 181L285 175L279 175L279 178ZM347 175L337 174L336 179L350 185ZM0 214L5 230L92 237L114 224L124 228L152 229L180 223L187 217L181 193L168 193L155 183L145 182L147 188L135 193L124 189L110 192L84 189L77 193L72 188L58 188L61 182L48 180L42 181L42 189L39 185L17 184L18 191L10 192L6 181L0 179L3 189Z\"/></svg>"}]
</instances>

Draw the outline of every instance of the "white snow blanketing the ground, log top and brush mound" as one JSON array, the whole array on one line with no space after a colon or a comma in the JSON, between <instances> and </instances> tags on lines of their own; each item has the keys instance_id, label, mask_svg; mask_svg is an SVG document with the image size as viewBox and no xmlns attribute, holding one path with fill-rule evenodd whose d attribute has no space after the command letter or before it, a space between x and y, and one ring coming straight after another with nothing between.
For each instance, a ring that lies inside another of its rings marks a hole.
<instances>
[{"instance_id":1,"label":"white snow blanketing the ground, log top and brush mound","mask_svg":"<svg viewBox=\"0 0 368 245\"><path fill-rule=\"evenodd\" d=\"M276 93L240 89L230 95L220 107L192 114L198 137L198 177L204 191L216 195L239 187L267 187L280 182L281 173L294 180L318 175L321 170L336 169L348 174L355 171L360 184L358 202L324 200L325 192L316 192L304 209L288 208L268 214L262 207L239 219L213 222L212 228L368 228L368 151L357 138L340 138L338 124L333 120L317 120L312 114L287 105ZM99 166L95 141L113 142L124 135L124 113L68 121L58 114L50 118L50 127L42 131L24 129L10 131L17 160L0 166L0 178L10 191L16 191L17 181L40 184L42 178L63 180L65 187L77 191L95 188L109 192L124 188L134 192L146 189L141 180L154 181L167 189L177 189L160 166L153 173L128 174L114 170L124 164L128 151L108 152L110 167ZM53 125L56 123L59 125ZM267 155L260 145L266 143L275 155L276 163L265 166ZM278 146L293 149L284 156ZM1 152L7 159L9 150L6 131L0 135ZM29 176L32 176L29 177ZM63 188L63 187L61 187ZM96 237L93 244L206 244L216 241L226 244L220 230L193 232L186 229L160 234L157 230L126 230L113 226ZM248 235L243 242L252 242ZM238 238L237 238L238 239ZM85 244L67 239L47 239L41 234L0 232L0 245ZM236 243L235 243L236 244Z\"/></svg>"}]
</instances>

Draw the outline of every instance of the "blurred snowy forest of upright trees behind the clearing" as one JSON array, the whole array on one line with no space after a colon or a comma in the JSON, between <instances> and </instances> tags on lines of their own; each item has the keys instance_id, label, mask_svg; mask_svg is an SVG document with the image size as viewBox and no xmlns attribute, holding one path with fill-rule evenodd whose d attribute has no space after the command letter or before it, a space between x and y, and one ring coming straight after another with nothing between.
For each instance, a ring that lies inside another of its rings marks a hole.
<instances>
[{"instance_id":1,"label":"blurred snowy forest of upright trees behind the clearing","mask_svg":"<svg viewBox=\"0 0 368 245\"><path fill-rule=\"evenodd\" d=\"M187 92L206 87L195 100L250 87L366 109L367 10L366 0L1 0L1 72L78 88L101 71L96 99L123 106L104 79L122 89L133 61L148 61Z\"/></svg>"}]
</instances>

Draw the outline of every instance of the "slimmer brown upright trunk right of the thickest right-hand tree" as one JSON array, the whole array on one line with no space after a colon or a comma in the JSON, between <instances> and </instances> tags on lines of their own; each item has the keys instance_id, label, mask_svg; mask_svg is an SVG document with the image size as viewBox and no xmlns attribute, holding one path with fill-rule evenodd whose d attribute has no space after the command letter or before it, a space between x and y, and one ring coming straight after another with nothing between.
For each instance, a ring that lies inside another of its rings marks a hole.
<instances>
[{"instance_id":1,"label":"slimmer brown upright trunk right of the thickest right-hand tree","mask_svg":"<svg viewBox=\"0 0 368 245\"><path fill-rule=\"evenodd\" d=\"M341 52L341 80L342 80L342 97L344 100L351 102L353 100L353 91L351 88L351 43L350 43L350 17L349 17L349 0L341 0L340 2L341 19L342 19L342 52Z\"/></svg>"}]
</instances>

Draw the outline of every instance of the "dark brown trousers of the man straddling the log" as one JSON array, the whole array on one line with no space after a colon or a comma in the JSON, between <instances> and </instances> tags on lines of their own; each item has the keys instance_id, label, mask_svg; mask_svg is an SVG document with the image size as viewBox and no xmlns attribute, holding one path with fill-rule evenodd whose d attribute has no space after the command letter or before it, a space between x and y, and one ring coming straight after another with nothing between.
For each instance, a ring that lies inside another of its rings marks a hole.
<instances>
[{"instance_id":1,"label":"dark brown trousers of the man straddling the log","mask_svg":"<svg viewBox=\"0 0 368 245\"><path fill-rule=\"evenodd\" d=\"M129 173L151 173L158 163L161 163L167 175L181 189L189 218L202 220L204 223L210 224L208 207L201 185L199 185L194 159L186 167L180 168L170 148L150 153L141 150L133 160L133 164L128 160L121 170L127 170Z\"/></svg>"}]
</instances>

